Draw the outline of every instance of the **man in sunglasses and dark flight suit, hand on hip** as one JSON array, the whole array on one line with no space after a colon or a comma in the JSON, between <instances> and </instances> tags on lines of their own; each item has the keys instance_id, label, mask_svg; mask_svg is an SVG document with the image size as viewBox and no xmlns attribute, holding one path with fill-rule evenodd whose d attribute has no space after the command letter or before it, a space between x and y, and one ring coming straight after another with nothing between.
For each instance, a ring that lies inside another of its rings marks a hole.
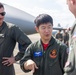
<instances>
[{"instance_id":1,"label":"man in sunglasses and dark flight suit, hand on hip","mask_svg":"<svg viewBox=\"0 0 76 75\"><path fill-rule=\"evenodd\" d=\"M31 41L17 26L3 21L4 16L4 6L0 3L0 75L15 75L13 63L23 57L24 50ZM24 50L13 56L16 42Z\"/></svg>"}]
</instances>

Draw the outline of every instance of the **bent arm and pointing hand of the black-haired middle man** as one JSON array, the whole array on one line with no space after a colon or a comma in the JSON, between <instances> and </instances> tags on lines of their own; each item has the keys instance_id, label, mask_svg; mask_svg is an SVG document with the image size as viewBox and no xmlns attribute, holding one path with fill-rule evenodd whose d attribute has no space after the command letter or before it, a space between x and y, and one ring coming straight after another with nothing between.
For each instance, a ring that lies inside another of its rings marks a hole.
<instances>
[{"instance_id":1,"label":"bent arm and pointing hand of the black-haired middle man","mask_svg":"<svg viewBox=\"0 0 76 75\"><path fill-rule=\"evenodd\" d=\"M25 51L23 58L20 60L20 67L24 72L35 71L35 68L38 69L36 63L33 61L33 49L34 47L29 45Z\"/></svg>"}]
</instances>

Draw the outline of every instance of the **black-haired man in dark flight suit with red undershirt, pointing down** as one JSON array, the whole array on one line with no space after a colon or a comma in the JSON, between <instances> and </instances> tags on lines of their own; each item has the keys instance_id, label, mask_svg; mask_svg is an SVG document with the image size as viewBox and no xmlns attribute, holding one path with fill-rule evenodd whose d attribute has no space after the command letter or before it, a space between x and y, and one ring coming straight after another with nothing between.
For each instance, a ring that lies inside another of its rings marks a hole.
<instances>
[{"instance_id":1,"label":"black-haired man in dark flight suit with red undershirt, pointing down","mask_svg":"<svg viewBox=\"0 0 76 75\"><path fill-rule=\"evenodd\" d=\"M40 14L36 17L35 24L41 38L27 47L20 61L21 69L24 72L32 70L33 75L63 75L67 47L52 36L52 17Z\"/></svg>"}]
</instances>

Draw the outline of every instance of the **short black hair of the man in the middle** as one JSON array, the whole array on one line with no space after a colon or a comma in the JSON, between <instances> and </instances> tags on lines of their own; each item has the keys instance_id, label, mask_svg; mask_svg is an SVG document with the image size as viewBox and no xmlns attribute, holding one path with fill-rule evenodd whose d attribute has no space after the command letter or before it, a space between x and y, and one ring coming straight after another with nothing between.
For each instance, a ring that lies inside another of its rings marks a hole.
<instances>
[{"instance_id":1,"label":"short black hair of the man in the middle","mask_svg":"<svg viewBox=\"0 0 76 75\"><path fill-rule=\"evenodd\" d=\"M48 22L50 22L53 25L53 19L48 14L40 14L34 20L34 23L36 24L37 27L39 27L40 24L44 24L44 23L48 23Z\"/></svg>"}]
</instances>

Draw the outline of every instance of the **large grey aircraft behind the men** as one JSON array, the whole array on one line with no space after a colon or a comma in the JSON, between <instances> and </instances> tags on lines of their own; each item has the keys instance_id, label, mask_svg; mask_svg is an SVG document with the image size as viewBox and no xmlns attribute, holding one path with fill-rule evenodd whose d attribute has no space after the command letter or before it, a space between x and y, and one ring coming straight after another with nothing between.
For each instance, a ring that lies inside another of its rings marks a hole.
<instances>
[{"instance_id":1,"label":"large grey aircraft behind the men","mask_svg":"<svg viewBox=\"0 0 76 75\"><path fill-rule=\"evenodd\" d=\"M26 34L34 34L36 33L35 30L35 24L34 19L35 17L20 10L15 7L9 6L7 4L4 4L6 15L5 15L5 21L9 23L13 23L17 26L19 26L24 33ZM54 27L54 30L63 30L63 28ZM57 31L53 31L53 34L55 34Z\"/></svg>"}]
</instances>

